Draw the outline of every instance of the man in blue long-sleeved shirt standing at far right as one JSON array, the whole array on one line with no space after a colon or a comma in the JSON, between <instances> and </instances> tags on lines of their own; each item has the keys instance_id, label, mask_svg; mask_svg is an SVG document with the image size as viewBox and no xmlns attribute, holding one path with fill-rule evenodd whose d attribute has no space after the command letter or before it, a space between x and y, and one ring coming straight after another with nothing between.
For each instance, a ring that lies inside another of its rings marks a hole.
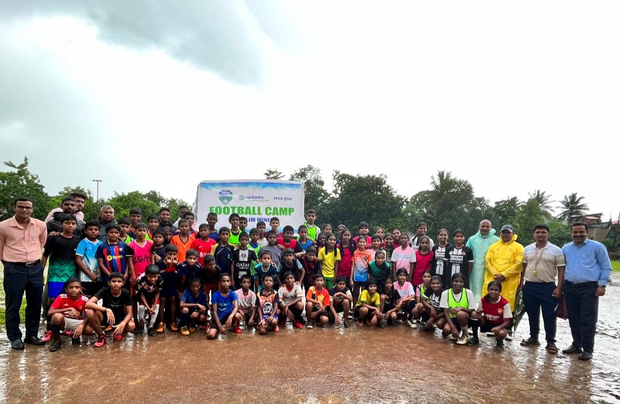
<instances>
[{"instance_id":1,"label":"man in blue long-sleeved shirt standing at far right","mask_svg":"<svg viewBox=\"0 0 620 404\"><path fill-rule=\"evenodd\" d=\"M611 275L607 249L588 239L588 225L576 221L570 226L573 242L562 247L566 257L564 299L569 311L572 345L563 353L579 353L589 361L594 351L594 335L598 319L598 298L604 296Z\"/></svg>"}]
</instances>

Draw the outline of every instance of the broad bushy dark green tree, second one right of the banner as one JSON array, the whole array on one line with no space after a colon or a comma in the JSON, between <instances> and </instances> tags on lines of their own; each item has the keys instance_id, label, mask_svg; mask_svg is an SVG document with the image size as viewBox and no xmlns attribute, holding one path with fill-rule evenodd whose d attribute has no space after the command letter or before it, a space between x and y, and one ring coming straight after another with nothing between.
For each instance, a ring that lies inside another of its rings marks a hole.
<instances>
[{"instance_id":1,"label":"broad bushy dark green tree, second one right of the banner","mask_svg":"<svg viewBox=\"0 0 620 404\"><path fill-rule=\"evenodd\" d=\"M393 227L402 214L405 198L386 182L386 176L353 176L334 171L334 192L325 212L319 213L332 226L341 223L356 229L360 221L376 226Z\"/></svg>"}]
</instances>

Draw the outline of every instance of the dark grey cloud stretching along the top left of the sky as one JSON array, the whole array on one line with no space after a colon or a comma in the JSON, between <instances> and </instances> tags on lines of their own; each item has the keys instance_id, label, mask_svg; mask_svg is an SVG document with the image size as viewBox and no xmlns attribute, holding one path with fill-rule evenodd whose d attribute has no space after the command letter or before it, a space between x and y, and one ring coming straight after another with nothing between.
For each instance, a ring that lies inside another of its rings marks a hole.
<instances>
[{"instance_id":1,"label":"dark grey cloud stretching along the top left of the sky","mask_svg":"<svg viewBox=\"0 0 620 404\"><path fill-rule=\"evenodd\" d=\"M0 11L4 19L73 16L95 27L100 40L161 49L243 85L261 84L278 45L294 49L294 22L283 9L242 0L4 2Z\"/></svg>"}]
</instances>

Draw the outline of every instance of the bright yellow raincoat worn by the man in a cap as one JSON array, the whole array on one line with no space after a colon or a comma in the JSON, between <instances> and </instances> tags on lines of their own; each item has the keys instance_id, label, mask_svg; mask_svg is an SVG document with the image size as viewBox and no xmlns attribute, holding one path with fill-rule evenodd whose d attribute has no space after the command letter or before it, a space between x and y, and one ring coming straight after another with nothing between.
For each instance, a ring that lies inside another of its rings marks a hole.
<instances>
[{"instance_id":1,"label":"bright yellow raincoat worn by the man in a cap","mask_svg":"<svg viewBox=\"0 0 620 404\"><path fill-rule=\"evenodd\" d=\"M502 239L492 244L487 251L487 260L484 265L484 285L482 296L487 294L487 285L494 280L495 275L501 273L506 279L502 282L502 296L510 303L510 309L515 311L516 290L519 288L521 272L523 271L523 246L517 243L516 234L512 240L504 243Z\"/></svg>"}]
</instances>

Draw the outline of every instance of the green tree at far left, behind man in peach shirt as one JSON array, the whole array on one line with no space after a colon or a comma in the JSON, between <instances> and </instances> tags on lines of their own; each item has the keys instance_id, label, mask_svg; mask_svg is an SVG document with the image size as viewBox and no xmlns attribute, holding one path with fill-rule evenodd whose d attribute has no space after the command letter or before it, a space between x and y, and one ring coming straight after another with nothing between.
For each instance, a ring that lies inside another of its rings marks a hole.
<instances>
[{"instance_id":1,"label":"green tree at far left, behind man in peach shirt","mask_svg":"<svg viewBox=\"0 0 620 404\"><path fill-rule=\"evenodd\" d=\"M28 170L28 158L24 157L24 162L19 165L15 165L12 161L4 161L4 165L15 171L0 172L0 220L12 217L13 202L20 196L32 200L32 217L43 220L47 216L50 197L40 183L38 175Z\"/></svg>"}]
</instances>

